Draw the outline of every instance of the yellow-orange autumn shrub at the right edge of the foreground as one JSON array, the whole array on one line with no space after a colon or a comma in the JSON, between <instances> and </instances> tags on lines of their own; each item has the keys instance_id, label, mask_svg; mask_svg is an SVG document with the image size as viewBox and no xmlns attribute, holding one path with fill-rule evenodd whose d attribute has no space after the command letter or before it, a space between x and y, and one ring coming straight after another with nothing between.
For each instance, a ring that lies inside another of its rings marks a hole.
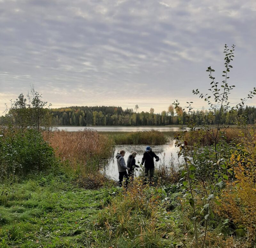
<instances>
[{"instance_id":1,"label":"yellow-orange autumn shrub at the right edge of the foreground","mask_svg":"<svg viewBox=\"0 0 256 248\"><path fill-rule=\"evenodd\" d=\"M218 212L228 218L234 234L247 236L248 240L256 239L256 164L255 153L252 155L246 148L238 146L230 158L230 170L234 171L235 181L227 183L222 191Z\"/></svg>"}]
</instances>

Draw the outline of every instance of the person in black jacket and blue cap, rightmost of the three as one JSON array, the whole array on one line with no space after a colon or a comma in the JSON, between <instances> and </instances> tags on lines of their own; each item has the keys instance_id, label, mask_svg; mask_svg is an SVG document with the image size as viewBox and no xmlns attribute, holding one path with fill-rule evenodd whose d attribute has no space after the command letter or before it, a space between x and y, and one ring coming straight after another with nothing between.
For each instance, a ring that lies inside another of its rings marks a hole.
<instances>
[{"instance_id":1,"label":"person in black jacket and blue cap, rightmost of the three","mask_svg":"<svg viewBox=\"0 0 256 248\"><path fill-rule=\"evenodd\" d=\"M154 158L156 158L156 162L159 161L159 157L156 156L156 154L152 151L150 146L147 146L146 151L143 154L141 164L143 165L145 162L145 181L147 180L149 171L150 184L152 184L152 179L155 170Z\"/></svg>"}]
</instances>

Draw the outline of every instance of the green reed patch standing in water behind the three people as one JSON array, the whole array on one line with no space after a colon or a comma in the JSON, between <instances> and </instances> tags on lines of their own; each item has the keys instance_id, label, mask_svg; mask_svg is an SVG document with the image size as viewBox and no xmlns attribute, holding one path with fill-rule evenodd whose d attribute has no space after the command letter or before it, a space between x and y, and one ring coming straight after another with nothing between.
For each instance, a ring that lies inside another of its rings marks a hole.
<instances>
[{"instance_id":1,"label":"green reed patch standing in water behind the three people","mask_svg":"<svg viewBox=\"0 0 256 248\"><path fill-rule=\"evenodd\" d=\"M116 145L162 145L168 141L167 135L159 131L138 131L138 132L105 132Z\"/></svg>"}]
</instances>

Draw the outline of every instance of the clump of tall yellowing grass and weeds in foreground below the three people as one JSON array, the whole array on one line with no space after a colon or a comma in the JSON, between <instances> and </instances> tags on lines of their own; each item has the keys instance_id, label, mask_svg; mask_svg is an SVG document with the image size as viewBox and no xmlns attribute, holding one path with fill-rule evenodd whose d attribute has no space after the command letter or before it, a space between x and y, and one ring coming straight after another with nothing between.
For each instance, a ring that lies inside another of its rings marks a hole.
<instances>
[{"instance_id":1,"label":"clump of tall yellowing grass and weeds in foreground below the three people","mask_svg":"<svg viewBox=\"0 0 256 248\"><path fill-rule=\"evenodd\" d=\"M127 192L119 191L98 215L95 228L104 230L102 247L172 247L172 240L163 238L171 231L168 223L172 221L162 220L161 192L143 187L138 179Z\"/></svg>"}]
</instances>

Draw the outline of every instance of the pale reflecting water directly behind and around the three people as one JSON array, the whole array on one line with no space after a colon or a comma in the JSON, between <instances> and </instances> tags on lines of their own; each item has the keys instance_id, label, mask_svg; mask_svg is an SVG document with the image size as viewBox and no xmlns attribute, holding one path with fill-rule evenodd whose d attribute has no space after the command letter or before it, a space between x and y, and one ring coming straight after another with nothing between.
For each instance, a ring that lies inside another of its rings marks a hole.
<instances>
[{"instance_id":1,"label":"pale reflecting water directly behind and around the three people","mask_svg":"<svg viewBox=\"0 0 256 248\"><path fill-rule=\"evenodd\" d=\"M159 168L161 166L167 166L170 168L171 164L174 165L174 167L178 167L179 164L181 164L181 158L178 158L177 152L179 147L174 146L174 141L170 141L165 145L156 145L151 146L152 151L156 153L156 155L159 157L159 162L155 162L155 167ZM101 165L101 172L105 173L108 178L118 180L118 169L117 169L117 161L116 161L116 154L119 152L119 150L125 150L126 153L124 155L125 163L127 164L127 159L129 155L135 150L137 152L137 156L135 157L136 164L139 165L138 161L141 163L141 159L143 157L143 153L145 152L146 145L117 145L115 147L114 156L110 158L105 165ZM155 159L154 159L155 160ZM144 168L144 166L143 166ZM135 177L139 176L143 171L141 168L138 168L135 170Z\"/></svg>"}]
</instances>

